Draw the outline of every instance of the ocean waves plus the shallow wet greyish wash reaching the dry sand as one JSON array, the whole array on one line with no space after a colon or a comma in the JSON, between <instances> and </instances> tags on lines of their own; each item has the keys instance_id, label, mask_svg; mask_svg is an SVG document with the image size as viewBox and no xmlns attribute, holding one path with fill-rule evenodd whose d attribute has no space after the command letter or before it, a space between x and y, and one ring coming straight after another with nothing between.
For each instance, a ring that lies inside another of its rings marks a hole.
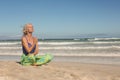
<instances>
[{"instance_id":1,"label":"ocean waves plus the shallow wet greyish wash reaching the dry sand","mask_svg":"<svg viewBox=\"0 0 120 80\"><path fill-rule=\"evenodd\" d=\"M104 62L120 64L120 38L80 38L39 40L39 55L46 53L56 56L55 60L78 62ZM0 59L18 60L22 55L20 40L1 40ZM58 56L60 56L58 58ZM69 59L68 59L69 57ZM110 61L110 62L109 62Z\"/></svg>"}]
</instances>

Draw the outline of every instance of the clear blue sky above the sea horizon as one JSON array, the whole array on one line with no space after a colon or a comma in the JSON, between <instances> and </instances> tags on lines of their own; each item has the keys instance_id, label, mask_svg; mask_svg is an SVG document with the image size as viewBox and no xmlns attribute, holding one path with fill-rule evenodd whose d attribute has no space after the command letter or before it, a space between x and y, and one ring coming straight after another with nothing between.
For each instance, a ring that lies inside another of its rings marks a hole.
<instances>
[{"instance_id":1,"label":"clear blue sky above the sea horizon","mask_svg":"<svg viewBox=\"0 0 120 80\"><path fill-rule=\"evenodd\" d=\"M0 36L29 22L40 38L120 34L120 0L0 0Z\"/></svg>"}]
</instances>

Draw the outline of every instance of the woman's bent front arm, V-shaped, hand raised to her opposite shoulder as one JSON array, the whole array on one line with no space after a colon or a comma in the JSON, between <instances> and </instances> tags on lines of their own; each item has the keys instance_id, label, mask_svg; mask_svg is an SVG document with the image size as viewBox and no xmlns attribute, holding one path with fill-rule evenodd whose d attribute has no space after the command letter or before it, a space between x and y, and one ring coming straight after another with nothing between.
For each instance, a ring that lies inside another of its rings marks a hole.
<instances>
[{"instance_id":1,"label":"woman's bent front arm, V-shaped, hand raised to her opposite shoulder","mask_svg":"<svg viewBox=\"0 0 120 80\"><path fill-rule=\"evenodd\" d=\"M34 46L35 46L36 43L37 43L37 40L34 39L34 40L33 40L33 45L32 45L31 47L28 47L28 43L27 43L27 41L26 41L26 38L25 38L25 37L22 37L22 45L24 46L24 48L26 49L26 51L27 51L28 53L31 52L31 50L34 48Z\"/></svg>"}]
</instances>

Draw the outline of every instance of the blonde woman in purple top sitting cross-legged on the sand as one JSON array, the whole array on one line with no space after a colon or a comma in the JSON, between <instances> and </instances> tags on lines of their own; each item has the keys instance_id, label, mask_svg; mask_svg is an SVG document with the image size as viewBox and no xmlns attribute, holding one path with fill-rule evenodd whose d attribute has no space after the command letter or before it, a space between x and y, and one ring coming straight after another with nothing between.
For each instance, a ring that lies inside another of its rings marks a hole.
<instances>
[{"instance_id":1,"label":"blonde woman in purple top sitting cross-legged on the sand","mask_svg":"<svg viewBox=\"0 0 120 80\"><path fill-rule=\"evenodd\" d=\"M25 24L21 39L23 50L21 56L22 65L39 66L50 62L53 58L51 54L37 55L39 52L38 39L32 35L33 31L34 29L31 23Z\"/></svg>"}]
</instances>

